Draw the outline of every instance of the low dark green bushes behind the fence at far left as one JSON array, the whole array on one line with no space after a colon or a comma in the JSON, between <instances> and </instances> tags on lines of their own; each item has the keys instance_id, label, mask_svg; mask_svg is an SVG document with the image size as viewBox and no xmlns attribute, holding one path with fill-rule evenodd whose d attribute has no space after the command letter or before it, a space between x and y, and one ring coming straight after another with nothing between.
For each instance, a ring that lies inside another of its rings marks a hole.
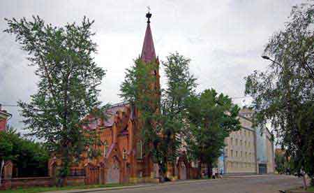
<instances>
[{"instance_id":1,"label":"low dark green bushes behind the fence at far left","mask_svg":"<svg viewBox=\"0 0 314 193\"><path fill-rule=\"evenodd\" d=\"M0 131L0 145L0 160L13 161L18 177L47 176L49 155L42 143L23 138L14 129L9 129Z\"/></svg>"}]
</instances>

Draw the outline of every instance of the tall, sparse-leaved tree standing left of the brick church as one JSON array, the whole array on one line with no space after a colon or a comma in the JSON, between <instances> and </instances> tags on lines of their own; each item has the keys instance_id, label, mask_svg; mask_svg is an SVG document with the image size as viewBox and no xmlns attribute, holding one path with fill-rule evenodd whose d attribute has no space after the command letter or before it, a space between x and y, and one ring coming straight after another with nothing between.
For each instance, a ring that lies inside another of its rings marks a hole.
<instances>
[{"instance_id":1,"label":"tall, sparse-leaved tree standing left of the brick church","mask_svg":"<svg viewBox=\"0 0 314 193\"><path fill-rule=\"evenodd\" d=\"M81 159L82 152L94 143L91 133L82 131L82 124L87 124L83 117L99 104L97 86L105 76L94 62L94 21L84 17L80 24L63 27L45 24L38 16L31 21L6 21L4 31L16 36L39 80L30 102L18 102L23 122L31 135L43 139L61 158L60 176L65 177L73 159Z\"/></svg>"}]
</instances>

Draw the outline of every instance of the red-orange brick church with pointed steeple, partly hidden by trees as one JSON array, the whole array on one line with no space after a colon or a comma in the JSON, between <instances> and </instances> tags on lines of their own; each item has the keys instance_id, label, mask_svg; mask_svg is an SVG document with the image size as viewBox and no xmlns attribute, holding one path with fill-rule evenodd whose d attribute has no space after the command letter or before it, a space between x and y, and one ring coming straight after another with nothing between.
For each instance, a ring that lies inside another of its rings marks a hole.
<instances>
[{"instance_id":1,"label":"red-orange brick church with pointed steeple, partly hidden by trees","mask_svg":"<svg viewBox=\"0 0 314 193\"><path fill-rule=\"evenodd\" d=\"M158 65L158 57L154 48L151 33L150 17L147 13L147 29L144 36L141 59L143 62L154 62ZM156 86L160 87L159 71L156 76ZM101 156L96 159L84 159L84 162L71 167L71 173L84 171L85 184L93 183L146 183L158 182L158 165L145 155L140 139L140 127L137 125L138 112L126 102L117 103L105 110L105 120L93 120L84 129L96 129L101 145L98 149ZM50 176L54 175L53 166L57 162L50 160ZM190 164L184 157L177 159L177 164L168 165L167 177L186 179L190 176Z\"/></svg>"}]
</instances>

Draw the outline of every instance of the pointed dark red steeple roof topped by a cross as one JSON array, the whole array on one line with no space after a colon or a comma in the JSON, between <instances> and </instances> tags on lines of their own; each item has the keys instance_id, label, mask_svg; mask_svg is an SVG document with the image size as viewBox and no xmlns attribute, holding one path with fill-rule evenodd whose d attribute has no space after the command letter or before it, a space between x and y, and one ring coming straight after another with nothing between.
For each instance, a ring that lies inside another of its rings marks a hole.
<instances>
[{"instance_id":1,"label":"pointed dark red steeple roof topped by a cross","mask_svg":"<svg viewBox=\"0 0 314 193\"><path fill-rule=\"evenodd\" d=\"M142 48L142 55L141 58L144 62L151 62L151 60L156 59L156 53L154 48L154 41L153 36L151 35L151 25L150 25L150 18L151 13L146 14L147 17L147 28L145 32L145 38Z\"/></svg>"}]
</instances>

